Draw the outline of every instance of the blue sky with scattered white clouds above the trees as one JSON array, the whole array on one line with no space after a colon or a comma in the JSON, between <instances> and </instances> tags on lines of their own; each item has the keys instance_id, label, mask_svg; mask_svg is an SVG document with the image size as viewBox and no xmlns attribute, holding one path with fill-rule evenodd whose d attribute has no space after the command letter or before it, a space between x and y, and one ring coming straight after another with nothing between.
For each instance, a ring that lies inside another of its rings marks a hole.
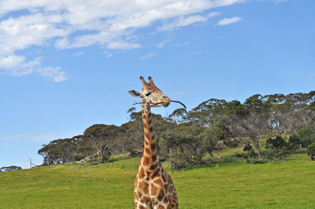
<instances>
[{"instance_id":1,"label":"blue sky with scattered white clouds above the trees","mask_svg":"<svg viewBox=\"0 0 315 209\"><path fill-rule=\"evenodd\" d=\"M42 164L37 153L49 141L127 123L137 107L127 91L141 90L139 76L188 111L210 98L314 91L314 8L308 0L0 1L0 167Z\"/></svg>"}]
</instances>

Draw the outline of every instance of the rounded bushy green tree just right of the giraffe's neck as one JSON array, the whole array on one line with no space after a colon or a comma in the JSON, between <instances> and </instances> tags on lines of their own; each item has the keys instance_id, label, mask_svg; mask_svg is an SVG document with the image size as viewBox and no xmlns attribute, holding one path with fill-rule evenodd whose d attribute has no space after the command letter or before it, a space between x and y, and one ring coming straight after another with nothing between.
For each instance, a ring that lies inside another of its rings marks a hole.
<instances>
[{"instance_id":1,"label":"rounded bushy green tree just right of the giraffe's neck","mask_svg":"<svg viewBox=\"0 0 315 209\"><path fill-rule=\"evenodd\" d=\"M201 125L181 125L160 137L160 146L164 150L172 148L175 157L184 160L187 167L200 163L202 157L212 153L216 144L215 132Z\"/></svg>"}]
</instances>

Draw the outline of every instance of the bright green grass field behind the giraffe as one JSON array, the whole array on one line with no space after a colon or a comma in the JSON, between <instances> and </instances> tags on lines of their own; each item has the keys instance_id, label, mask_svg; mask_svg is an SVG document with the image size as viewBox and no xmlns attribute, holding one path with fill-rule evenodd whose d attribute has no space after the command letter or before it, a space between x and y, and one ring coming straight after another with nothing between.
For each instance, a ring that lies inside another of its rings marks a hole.
<instances>
[{"instance_id":1,"label":"bright green grass field behind the giraffe","mask_svg":"<svg viewBox=\"0 0 315 209\"><path fill-rule=\"evenodd\" d=\"M139 160L0 173L0 208L135 208ZM180 208L315 208L315 162L305 150L285 163L220 163L171 176Z\"/></svg>"}]
</instances>

